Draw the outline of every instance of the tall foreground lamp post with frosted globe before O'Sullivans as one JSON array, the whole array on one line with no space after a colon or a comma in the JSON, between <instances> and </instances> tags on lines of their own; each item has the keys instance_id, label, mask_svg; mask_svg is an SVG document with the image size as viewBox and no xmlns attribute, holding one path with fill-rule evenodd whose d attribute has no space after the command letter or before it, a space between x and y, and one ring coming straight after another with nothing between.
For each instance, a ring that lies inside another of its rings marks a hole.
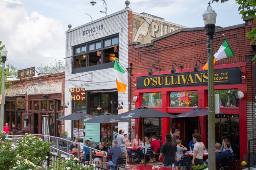
<instances>
[{"instance_id":1,"label":"tall foreground lamp post with frosted globe before O'Sullivans","mask_svg":"<svg viewBox=\"0 0 256 170\"><path fill-rule=\"evenodd\" d=\"M207 57L208 57L208 147L209 147L209 169L215 169L215 109L214 109L214 62L213 62L213 35L216 23L216 12L212 7L204 11L204 29L207 35Z\"/></svg>"}]
</instances>

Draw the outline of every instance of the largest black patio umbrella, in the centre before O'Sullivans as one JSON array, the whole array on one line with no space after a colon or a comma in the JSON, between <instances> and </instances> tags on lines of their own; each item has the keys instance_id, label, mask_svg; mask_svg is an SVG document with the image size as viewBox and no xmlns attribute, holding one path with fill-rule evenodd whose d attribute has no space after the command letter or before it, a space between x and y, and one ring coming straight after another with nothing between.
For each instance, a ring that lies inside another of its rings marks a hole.
<instances>
[{"instance_id":1,"label":"largest black patio umbrella, in the centre before O'Sullivans","mask_svg":"<svg viewBox=\"0 0 256 170\"><path fill-rule=\"evenodd\" d=\"M145 106L135 108L133 110L127 111L116 115L115 119L142 119L143 123L143 137L144 137L144 119L146 118L164 118L164 117L176 117L169 113L164 113L162 111L154 110ZM146 167L146 149L145 149L145 140L144 141L144 167Z\"/></svg>"}]
</instances>

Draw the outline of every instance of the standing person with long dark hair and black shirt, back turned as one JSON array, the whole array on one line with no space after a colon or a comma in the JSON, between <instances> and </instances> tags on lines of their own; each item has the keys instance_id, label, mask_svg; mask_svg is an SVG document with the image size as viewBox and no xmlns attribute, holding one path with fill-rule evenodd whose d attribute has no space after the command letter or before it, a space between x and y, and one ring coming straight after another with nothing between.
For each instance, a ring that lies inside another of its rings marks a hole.
<instances>
[{"instance_id":1,"label":"standing person with long dark hair and black shirt, back turned","mask_svg":"<svg viewBox=\"0 0 256 170\"><path fill-rule=\"evenodd\" d=\"M176 144L171 139L171 134L167 133L165 135L165 142L163 143L160 155L159 155L159 161L161 161L163 155L163 164L167 168L172 168L173 164L175 163L175 160L179 162L179 159L177 158L177 147Z\"/></svg>"}]
</instances>

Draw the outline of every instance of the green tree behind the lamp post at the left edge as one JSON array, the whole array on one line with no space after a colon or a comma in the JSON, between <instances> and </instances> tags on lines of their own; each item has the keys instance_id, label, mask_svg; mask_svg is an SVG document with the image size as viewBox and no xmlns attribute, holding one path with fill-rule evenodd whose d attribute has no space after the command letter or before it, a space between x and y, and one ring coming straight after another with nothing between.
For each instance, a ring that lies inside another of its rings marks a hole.
<instances>
[{"instance_id":1,"label":"green tree behind the lamp post at the left edge","mask_svg":"<svg viewBox=\"0 0 256 170\"><path fill-rule=\"evenodd\" d=\"M0 41L0 51L2 51L3 46L1 46L2 41ZM1 53L0 53L1 56ZM8 60L8 59L7 59ZM2 56L1 56L1 60L0 60L0 94L2 94ZM10 69L9 69L10 68ZM15 75L17 76L17 68L15 68L13 65L11 64L6 64L6 69L5 69L5 80L7 78L7 76L11 76L11 75ZM5 89L8 89L11 85L11 82L5 82Z\"/></svg>"}]
</instances>

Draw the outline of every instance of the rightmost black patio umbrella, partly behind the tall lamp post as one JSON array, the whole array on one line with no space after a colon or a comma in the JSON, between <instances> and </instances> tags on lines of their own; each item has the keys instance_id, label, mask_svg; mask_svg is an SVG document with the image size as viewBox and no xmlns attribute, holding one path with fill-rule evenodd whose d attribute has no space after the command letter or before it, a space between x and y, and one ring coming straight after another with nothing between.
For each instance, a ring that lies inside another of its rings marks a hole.
<instances>
[{"instance_id":1,"label":"rightmost black patio umbrella, partly behind the tall lamp post","mask_svg":"<svg viewBox=\"0 0 256 170\"><path fill-rule=\"evenodd\" d=\"M225 113L220 112L218 114L225 114ZM177 117L197 117L197 116L208 116L208 110L203 109L201 107L195 107L190 111L186 111L184 113L181 113L181 114L177 115ZM200 129L200 132L201 132L200 119L199 119L199 129Z\"/></svg>"}]
</instances>

